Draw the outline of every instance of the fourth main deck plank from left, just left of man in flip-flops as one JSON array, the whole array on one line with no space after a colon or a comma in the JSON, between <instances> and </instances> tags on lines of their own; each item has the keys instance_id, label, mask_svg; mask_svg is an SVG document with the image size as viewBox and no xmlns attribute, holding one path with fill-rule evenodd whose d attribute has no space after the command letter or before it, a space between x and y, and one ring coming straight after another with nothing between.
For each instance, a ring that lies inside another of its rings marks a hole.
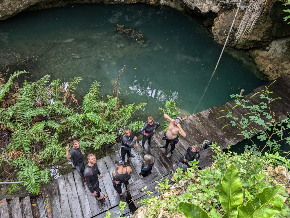
<instances>
[{"instance_id":1,"label":"fourth main deck plank from left, just left of man in flip-flops","mask_svg":"<svg viewBox=\"0 0 290 218\"><path fill-rule=\"evenodd\" d=\"M79 196L79 202L81 205L81 211L84 218L92 217L92 212L90 209L90 203L88 200L88 196L86 194L86 184L84 184L84 180L80 177L79 173L75 170L73 172L75 178L75 188L77 190L77 194Z\"/></svg>"}]
</instances>

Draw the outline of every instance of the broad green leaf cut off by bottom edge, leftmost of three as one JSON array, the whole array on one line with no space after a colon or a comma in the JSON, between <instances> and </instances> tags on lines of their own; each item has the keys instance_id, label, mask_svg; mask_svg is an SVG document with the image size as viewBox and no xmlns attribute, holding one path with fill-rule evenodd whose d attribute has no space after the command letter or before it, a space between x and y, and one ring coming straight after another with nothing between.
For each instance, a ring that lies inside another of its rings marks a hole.
<instances>
[{"instance_id":1,"label":"broad green leaf cut off by bottom edge, leftmost of three","mask_svg":"<svg viewBox=\"0 0 290 218\"><path fill-rule=\"evenodd\" d=\"M179 202L178 208L181 212L184 213L184 216L190 218L209 218L206 212L200 207L195 204L189 204L187 202Z\"/></svg>"}]
</instances>

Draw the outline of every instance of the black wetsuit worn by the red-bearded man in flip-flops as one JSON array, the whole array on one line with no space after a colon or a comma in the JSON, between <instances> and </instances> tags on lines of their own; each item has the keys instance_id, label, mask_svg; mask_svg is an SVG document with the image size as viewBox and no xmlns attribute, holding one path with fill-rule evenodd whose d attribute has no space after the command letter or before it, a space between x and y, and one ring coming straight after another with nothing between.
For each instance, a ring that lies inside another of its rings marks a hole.
<instances>
[{"instance_id":1,"label":"black wetsuit worn by the red-bearded man in flip-flops","mask_svg":"<svg viewBox=\"0 0 290 218\"><path fill-rule=\"evenodd\" d=\"M86 184L88 185L88 188L90 189L91 193L94 193L95 190L93 186L98 186L99 187L99 178L98 175L100 175L99 167L97 164L94 166L89 166L86 165L85 170L84 170L84 177Z\"/></svg>"}]
</instances>

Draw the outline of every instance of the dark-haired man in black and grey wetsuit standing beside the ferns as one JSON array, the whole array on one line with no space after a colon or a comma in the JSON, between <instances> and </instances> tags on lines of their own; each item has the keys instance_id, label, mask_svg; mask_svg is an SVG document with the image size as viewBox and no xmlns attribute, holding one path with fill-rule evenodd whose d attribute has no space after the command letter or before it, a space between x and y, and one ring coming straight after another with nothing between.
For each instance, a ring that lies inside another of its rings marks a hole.
<instances>
[{"instance_id":1,"label":"dark-haired man in black and grey wetsuit standing beside the ferns","mask_svg":"<svg viewBox=\"0 0 290 218\"><path fill-rule=\"evenodd\" d=\"M138 142L136 141L137 136L131 132L130 128L125 128L125 134L122 135L122 141L118 143L121 147L121 157L122 160L125 162L125 155L127 154L128 157L135 157L135 155L131 154L131 149L133 148L134 144L136 143L136 147L138 147Z\"/></svg>"}]
</instances>

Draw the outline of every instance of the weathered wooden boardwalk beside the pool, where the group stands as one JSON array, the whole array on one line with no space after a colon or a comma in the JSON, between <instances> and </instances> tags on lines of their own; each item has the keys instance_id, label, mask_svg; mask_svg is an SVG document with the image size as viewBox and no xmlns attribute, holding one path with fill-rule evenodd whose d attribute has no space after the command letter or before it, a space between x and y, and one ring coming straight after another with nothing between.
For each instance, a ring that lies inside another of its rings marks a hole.
<instances>
[{"instance_id":1,"label":"weathered wooden boardwalk beside the pool, where the group stands","mask_svg":"<svg viewBox=\"0 0 290 218\"><path fill-rule=\"evenodd\" d=\"M271 82L267 83L269 85ZM260 91L264 86L254 90L253 93ZM290 110L290 76L286 75L283 78L278 78L277 82L270 87L270 91L274 93L272 98L282 97L282 100L276 100L272 103L273 111L276 113L276 118L281 116L281 119L287 118L287 111ZM248 99L253 93L245 96ZM261 99L255 96L251 99L253 104L259 103ZM217 120L218 117L227 114L225 109L231 110L235 102L227 102L218 107L211 107L200 113L192 114L182 122L182 127L186 132L186 137L181 137L176 144L176 148L171 157L167 157L170 150L168 148L160 148L164 144L161 139L163 132L156 133L151 139L153 148L148 146L147 142L144 151L141 151L141 146L132 149L134 158L125 157L126 165L131 166L133 173L128 186L131 198L134 200L135 206L139 199L146 197L141 191L141 188L148 186L148 189L153 191L155 195L158 192L155 190L155 182L162 177L169 177L172 170L172 165L176 164L178 160L184 155L184 151L193 144L201 144L203 140L210 140L217 142L221 149L225 149L228 145L235 145L242 141L244 138L240 130L236 127L227 126L222 130L222 127L229 123L227 118ZM233 114L245 114L248 111L238 106L235 107ZM158 120L162 122L162 120ZM141 171L141 165L145 154L151 154L155 157L155 164L152 169L152 174L140 178L138 173ZM211 157L213 152L211 149L206 149L200 153L199 166L201 168L211 165L214 161ZM98 201L95 197L91 196L88 187L84 180L80 178L79 174L74 171L52 181L45 187L44 199L49 199L49 204L46 206L50 209L53 218L79 218L79 217L105 217L106 211L112 212L112 216L117 216L119 210L120 200L125 201L127 193L123 188L123 196L119 197L113 188L111 182L111 172L115 169L114 160L120 157L120 151L112 153L97 161L100 172L103 174L103 179L100 179L100 188L103 193L108 193L108 198ZM140 180L141 179L141 180ZM3 205L6 206L6 205ZM0 214L1 214L0 208ZM124 214L130 213L129 208L126 208Z\"/></svg>"}]
</instances>

